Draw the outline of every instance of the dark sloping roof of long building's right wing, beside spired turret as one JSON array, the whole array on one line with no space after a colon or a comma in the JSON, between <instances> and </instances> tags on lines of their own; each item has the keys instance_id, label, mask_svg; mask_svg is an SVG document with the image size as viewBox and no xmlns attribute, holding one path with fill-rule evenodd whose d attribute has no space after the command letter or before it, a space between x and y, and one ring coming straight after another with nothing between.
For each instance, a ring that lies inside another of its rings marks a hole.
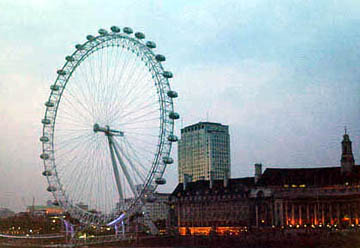
<instances>
[{"instance_id":1,"label":"dark sloping roof of long building's right wing, beside spired turret","mask_svg":"<svg viewBox=\"0 0 360 248\"><path fill-rule=\"evenodd\" d=\"M329 186L345 182L360 182L360 166L352 173L342 174L341 167L320 168L269 168L261 175L258 185L283 186Z\"/></svg>"}]
</instances>

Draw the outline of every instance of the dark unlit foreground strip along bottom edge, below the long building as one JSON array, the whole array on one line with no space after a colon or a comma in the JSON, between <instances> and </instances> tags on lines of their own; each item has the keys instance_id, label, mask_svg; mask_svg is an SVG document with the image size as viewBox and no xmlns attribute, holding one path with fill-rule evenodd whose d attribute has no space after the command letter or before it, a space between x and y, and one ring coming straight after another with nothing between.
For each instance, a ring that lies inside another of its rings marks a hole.
<instances>
[{"instance_id":1,"label":"dark unlit foreground strip along bottom edge, below the long building","mask_svg":"<svg viewBox=\"0 0 360 248\"><path fill-rule=\"evenodd\" d=\"M241 236L144 237L106 247L354 248L360 247L360 232L343 230L249 233Z\"/></svg>"}]
</instances>

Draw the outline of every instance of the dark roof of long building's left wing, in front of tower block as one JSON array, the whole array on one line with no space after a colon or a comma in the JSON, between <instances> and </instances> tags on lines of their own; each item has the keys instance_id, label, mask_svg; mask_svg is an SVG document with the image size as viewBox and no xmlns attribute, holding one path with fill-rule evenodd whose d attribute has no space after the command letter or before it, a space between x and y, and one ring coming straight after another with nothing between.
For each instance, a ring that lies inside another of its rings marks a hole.
<instances>
[{"instance_id":1,"label":"dark roof of long building's left wing, in front of tower block","mask_svg":"<svg viewBox=\"0 0 360 248\"><path fill-rule=\"evenodd\" d=\"M198 180L195 182L189 182L186 184L184 190L183 183L179 183L175 190L172 192L172 196L180 194L195 195L197 192L208 191L210 194L226 194L229 192L246 191L247 188L254 186L254 177L243 177L229 179L228 186L224 187L224 180L213 180L212 188L210 189L210 181Z\"/></svg>"}]
</instances>

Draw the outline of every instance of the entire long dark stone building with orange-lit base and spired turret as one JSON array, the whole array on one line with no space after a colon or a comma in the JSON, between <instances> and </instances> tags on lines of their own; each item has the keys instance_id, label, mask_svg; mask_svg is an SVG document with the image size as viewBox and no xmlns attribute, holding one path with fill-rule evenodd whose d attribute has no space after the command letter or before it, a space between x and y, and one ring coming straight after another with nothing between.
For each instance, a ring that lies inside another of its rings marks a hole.
<instances>
[{"instance_id":1,"label":"entire long dark stone building with orange-lit base and spired turret","mask_svg":"<svg viewBox=\"0 0 360 248\"><path fill-rule=\"evenodd\" d=\"M340 166L268 168L255 177L180 183L170 197L180 234L246 228L360 227L360 166L344 134Z\"/></svg>"}]
</instances>

